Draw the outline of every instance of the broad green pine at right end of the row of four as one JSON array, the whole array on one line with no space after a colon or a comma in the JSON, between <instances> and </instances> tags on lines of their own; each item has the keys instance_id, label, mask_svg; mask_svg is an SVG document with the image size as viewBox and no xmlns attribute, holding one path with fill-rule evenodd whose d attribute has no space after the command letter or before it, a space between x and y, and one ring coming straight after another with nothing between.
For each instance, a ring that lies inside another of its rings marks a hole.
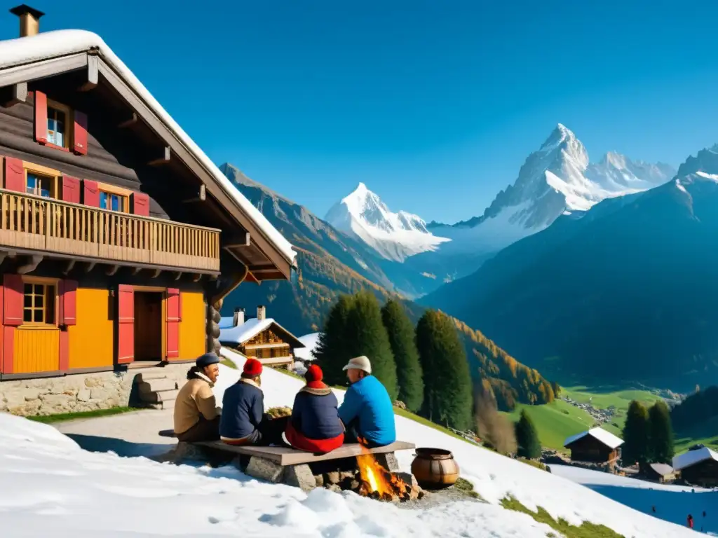
<instances>
[{"instance_id":1,"label":"broad green pine at right end of the row of four","mask_svg":"<svg viewBox=\"0 0 718 538\"><path fill-rule=\"evenodd\" d=\"M471 376L466 351L451 319L427 310L416 325L416 347L424 370L424 415L439 424L469 428Z\"/></svg>"}]
</instances>

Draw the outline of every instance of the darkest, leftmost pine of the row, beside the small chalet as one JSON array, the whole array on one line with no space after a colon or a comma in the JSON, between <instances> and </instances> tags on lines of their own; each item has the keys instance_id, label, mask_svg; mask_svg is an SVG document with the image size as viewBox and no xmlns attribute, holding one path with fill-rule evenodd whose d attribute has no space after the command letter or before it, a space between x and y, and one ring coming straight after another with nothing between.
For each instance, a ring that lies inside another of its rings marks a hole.
<instances>
[{"instance_id":1,"label":"darkest, leftmost pine of the row, beside the small chalet","mask_svg":"<svg viewBox=\"0 0 718 538\"><path fill-rule=\"evenodd\" d=\"M314 357L324 372L327 384L343 385L347 381L342 368L353 357L347 349L347 321L354 306L353 296L341 295L329 311L324 329L320 334Z\"/></svg>"}]
</instances>

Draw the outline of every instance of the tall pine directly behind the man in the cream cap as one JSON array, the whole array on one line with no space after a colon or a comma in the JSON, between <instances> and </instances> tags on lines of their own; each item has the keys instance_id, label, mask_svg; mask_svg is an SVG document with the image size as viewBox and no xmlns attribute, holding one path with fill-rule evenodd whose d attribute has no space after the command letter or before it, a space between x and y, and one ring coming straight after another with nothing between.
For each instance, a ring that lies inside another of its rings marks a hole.
<instances>
[{"instance_id":1,"label":"tall pine directly behind the man in the cream cap","mask_svg":"<svg viewBox=\"0 0 718 538\"><path fill-rule=\"evenodd\" d=\"M350 358L366 355L371 362L371 373L386 387L391 400L396 400L396 362L381 321L381 308L373 293L356 293L346 326L345 351Z\"/></svg>"}]
</instances>

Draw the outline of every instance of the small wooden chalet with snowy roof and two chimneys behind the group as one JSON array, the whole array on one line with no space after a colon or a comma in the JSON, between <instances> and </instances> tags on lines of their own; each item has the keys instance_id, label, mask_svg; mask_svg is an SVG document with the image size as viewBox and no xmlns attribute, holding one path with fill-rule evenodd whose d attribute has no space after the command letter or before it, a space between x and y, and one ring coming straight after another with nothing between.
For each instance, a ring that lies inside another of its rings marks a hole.
<instances>
[{"instance_id":1,"label":"small wooden chalet with snowy roof and two chimneys behind the group","mask_svg":"<svg viewBox=\"0 0 718 538\"><path fill-rule=\"evenodd\" d=\"M256 357L262 364L292 368L294 349L304 344L297 336L266 317L266 308L257 307L257 317L245 319L244 308L235 308L234 316L220 321L220 343L236 349L246 357Z\"/></svg>"}]
</instances>

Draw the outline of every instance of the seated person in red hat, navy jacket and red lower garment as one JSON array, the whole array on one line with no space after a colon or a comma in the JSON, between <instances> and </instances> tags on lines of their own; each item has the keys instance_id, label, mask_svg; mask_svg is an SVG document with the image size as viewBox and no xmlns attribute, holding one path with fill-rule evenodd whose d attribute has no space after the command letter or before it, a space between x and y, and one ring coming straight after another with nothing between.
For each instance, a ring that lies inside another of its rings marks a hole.
<instances>
[{"instance_id":1,"label":"seated person in red hat, navy jacket and red lower garment","mask_svg":"<svg viewBox=\"0 0 718 538\"><path fill-rule=\"evenodd\" d=\"M322 369L312 364L304 374L307 384L294 397L292 418L284 430L286 443L297 450L326 454L344 442L344 425L337 397L322 382Z\"/></svg>"}]
</instances>

